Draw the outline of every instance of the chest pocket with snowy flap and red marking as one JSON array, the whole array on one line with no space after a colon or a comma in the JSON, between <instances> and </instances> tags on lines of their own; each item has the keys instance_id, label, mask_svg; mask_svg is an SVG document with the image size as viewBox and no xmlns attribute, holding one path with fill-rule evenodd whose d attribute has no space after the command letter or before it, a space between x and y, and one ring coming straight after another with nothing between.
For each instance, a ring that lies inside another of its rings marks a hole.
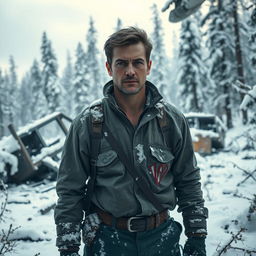
<instances>
[{"instance_id":1,"label":"chest pocket with snowy flap and red marking","mask_svg":"<svg viewBox=\"0 0 256 256\"><path fill-rule=\"evenodd\" d=\"M153 176L156 185L159 185L171 168L174 156L169 148L161 145L149 146L148 171Z\"/></svg>"}]
</instances>

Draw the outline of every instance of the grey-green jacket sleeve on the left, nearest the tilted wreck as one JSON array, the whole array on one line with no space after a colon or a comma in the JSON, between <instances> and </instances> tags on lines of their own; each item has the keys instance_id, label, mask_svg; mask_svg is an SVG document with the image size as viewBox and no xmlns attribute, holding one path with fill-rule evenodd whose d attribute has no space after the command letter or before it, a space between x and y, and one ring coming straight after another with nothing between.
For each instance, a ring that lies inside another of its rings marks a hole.
<instances>
[{"instance_id":1,"label":"grey-green jacket sleeve on the left, nearest the tilted wreck","mask_svg":"<svg viewBox=\"0 0 256 256\"><path fill-rule=\"evenodd\" d=\"M60 250L79 248L83 219L83 199L89 173L89 143L86 118L77 118L66 138L59 167L54 212L57 229L56 245Z\"/></svg>"}]
</instances>

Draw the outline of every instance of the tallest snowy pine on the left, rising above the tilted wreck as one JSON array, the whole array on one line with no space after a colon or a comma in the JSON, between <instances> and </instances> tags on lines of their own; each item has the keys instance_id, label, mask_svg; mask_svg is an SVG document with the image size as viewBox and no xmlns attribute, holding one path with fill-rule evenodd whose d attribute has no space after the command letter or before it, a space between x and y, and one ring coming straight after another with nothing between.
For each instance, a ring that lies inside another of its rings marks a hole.
<instances>
[{"instance_id":1,"label":"tallest snowy pine on the left, rising above the tilted wreck","mask_svg":"<svg viewBox=\"0 0 256 256\"><path fill-rule=\"evenodd\" d=\"M46 32L43 32L42 36L41 54L43 63L42 84L48 103L48 112L52 113L60 110L62 92L57 74L57 59Z\"/></svg>"}]
</instances>

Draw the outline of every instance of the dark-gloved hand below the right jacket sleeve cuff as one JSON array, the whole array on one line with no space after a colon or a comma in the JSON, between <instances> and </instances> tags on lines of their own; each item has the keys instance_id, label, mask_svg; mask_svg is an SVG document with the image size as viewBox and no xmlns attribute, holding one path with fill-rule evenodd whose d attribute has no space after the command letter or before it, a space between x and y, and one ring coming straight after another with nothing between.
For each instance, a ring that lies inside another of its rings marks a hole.
<instances>
[{"instance_id":1,"label":"dark-gloved hand below the right jacket sleeve cuff","mask_svg":"<svg viewBox=\"0 0 256 256\"><path fill-rule=\"evenodd\" d=\"M183 256L206 256L205 237L189 237L184 246Z\"/></svg>"}]
</instances>

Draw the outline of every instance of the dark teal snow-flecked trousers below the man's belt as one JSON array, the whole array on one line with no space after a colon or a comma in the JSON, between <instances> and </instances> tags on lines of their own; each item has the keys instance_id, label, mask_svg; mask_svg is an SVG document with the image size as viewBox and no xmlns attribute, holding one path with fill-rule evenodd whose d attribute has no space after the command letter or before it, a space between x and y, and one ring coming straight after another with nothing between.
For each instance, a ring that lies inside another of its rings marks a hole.
<instances>
[{"instance_id":1,"label":"dark teal snow-flecked trousers below the man's belt","mask_svg":"<svg viewBox=\"0 0 256 256\"><path fill-rule=\"evenodd\" d=\"M90 246L85 246L84 256L181 256L180 223L172 218L159 227L131 233L104 224L100 225Z\"/></svg>"}]
</instances>

